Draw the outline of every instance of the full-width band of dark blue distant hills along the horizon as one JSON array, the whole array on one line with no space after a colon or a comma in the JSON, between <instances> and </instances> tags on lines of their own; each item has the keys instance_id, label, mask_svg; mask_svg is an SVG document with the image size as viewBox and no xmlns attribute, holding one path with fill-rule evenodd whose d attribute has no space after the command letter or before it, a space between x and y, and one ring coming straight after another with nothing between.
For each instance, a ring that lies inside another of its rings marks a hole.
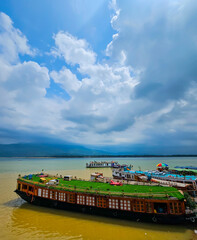
<instances>
[{"instance_id":1,"label":"full-width band of dark blue distant hills along the horizon","mask_svg":"<svg viewBox=\"0 0 197 240\"><path fill-rule=\"evenodd\" d=\"M191 148L142 146L82 146L68 142L0 144L0 157L165 157L197 156Z\"/></svg>"}]
</instances>

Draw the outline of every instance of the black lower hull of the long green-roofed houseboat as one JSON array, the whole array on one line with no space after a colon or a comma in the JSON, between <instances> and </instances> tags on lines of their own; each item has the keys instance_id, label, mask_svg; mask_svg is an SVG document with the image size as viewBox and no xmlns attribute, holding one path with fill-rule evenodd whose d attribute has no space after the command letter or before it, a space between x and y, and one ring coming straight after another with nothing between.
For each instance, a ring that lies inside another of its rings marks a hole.
<instances>
[{"instance_id":1,"label":"black lower hull of the long green-roofed houseboat","mask_svg":"<svg viewBox=\"0 0 197 240\"><path fill-rule=\"evenodd\" d=\"M44 207L63 209L68 211L82 212L93 215L107 216L113 218L123 218L128 220L136 220L138 222L154 222L154 223L168 223L168 224L180 224L184 223L188 218L188 215L155 215L148 213L128 212L123 210L98 208L95 206L72 204L68 202L62 202L58 200L27 195L26 192L15 190L15 192L25 201ZM192 219L192 218L191 218ZM191 220L190 219L190 220ZM194 219L195 220L195 219Z\"/></svg>"}]
</instances>

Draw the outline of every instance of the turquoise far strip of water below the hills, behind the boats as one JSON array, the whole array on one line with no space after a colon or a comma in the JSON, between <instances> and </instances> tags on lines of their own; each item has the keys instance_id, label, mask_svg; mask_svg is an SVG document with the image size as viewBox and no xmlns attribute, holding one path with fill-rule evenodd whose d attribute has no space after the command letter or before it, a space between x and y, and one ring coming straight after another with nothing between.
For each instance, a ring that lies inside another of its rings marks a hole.
<instances>
[{"instance_id":1,"label":"turquoise far strip of water below the hills, behind the boats","mask_svg":"<svg viewBox=\"0 0 197 240\"><path fill-rule=\"evenodd\" d=\"M160 162L169 167L191 165L197 167L197 157L154 157L154 158L0 158L0 173L45 172L53 170L82 170L86 163L96 161L118 161L133 165L135 170L153 170Z\"/></svg>"}]
</instances>

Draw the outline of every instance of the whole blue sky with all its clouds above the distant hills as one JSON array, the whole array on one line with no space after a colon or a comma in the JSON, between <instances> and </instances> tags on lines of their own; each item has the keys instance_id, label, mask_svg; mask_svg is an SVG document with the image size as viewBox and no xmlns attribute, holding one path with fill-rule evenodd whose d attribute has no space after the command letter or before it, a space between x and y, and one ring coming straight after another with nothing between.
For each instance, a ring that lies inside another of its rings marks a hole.
<instances>
[{"instance_id":1,"label":"whole blue sky with all its clouds above the distant hills","mask_svg":"<svg viewBox=\"0 0 197 240\"><path fill-rule=\"evenodd\" d=\"M196 0L0 1L0 144L197 153Z\"/></svg>"}]
</instances>

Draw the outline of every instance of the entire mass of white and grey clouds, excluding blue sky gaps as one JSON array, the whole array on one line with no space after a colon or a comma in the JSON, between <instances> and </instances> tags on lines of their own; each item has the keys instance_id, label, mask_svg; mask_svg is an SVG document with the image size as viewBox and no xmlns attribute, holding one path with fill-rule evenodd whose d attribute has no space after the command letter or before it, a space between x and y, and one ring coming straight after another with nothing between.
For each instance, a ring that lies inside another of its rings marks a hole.
<instances>
[{"instance_id":1,"label":"entire mass of white and grey clouds, excluding blue sky gaps","mask_svg":"<svg viewBox=\"0 0 197 240\"><path fill-rule=\"evenodd\" d=\"M108 57L98 60L85 39L60 31L51 54L64 62L53 71L20 62L34 50L7 15L0 18L7 26L0 34L2 128L83 144L195 146L196 2L112 1L111 7L116 33L106 44ZM50 78L70 95L67 101L47 97Z\"/></svg>"}]
</instances>

